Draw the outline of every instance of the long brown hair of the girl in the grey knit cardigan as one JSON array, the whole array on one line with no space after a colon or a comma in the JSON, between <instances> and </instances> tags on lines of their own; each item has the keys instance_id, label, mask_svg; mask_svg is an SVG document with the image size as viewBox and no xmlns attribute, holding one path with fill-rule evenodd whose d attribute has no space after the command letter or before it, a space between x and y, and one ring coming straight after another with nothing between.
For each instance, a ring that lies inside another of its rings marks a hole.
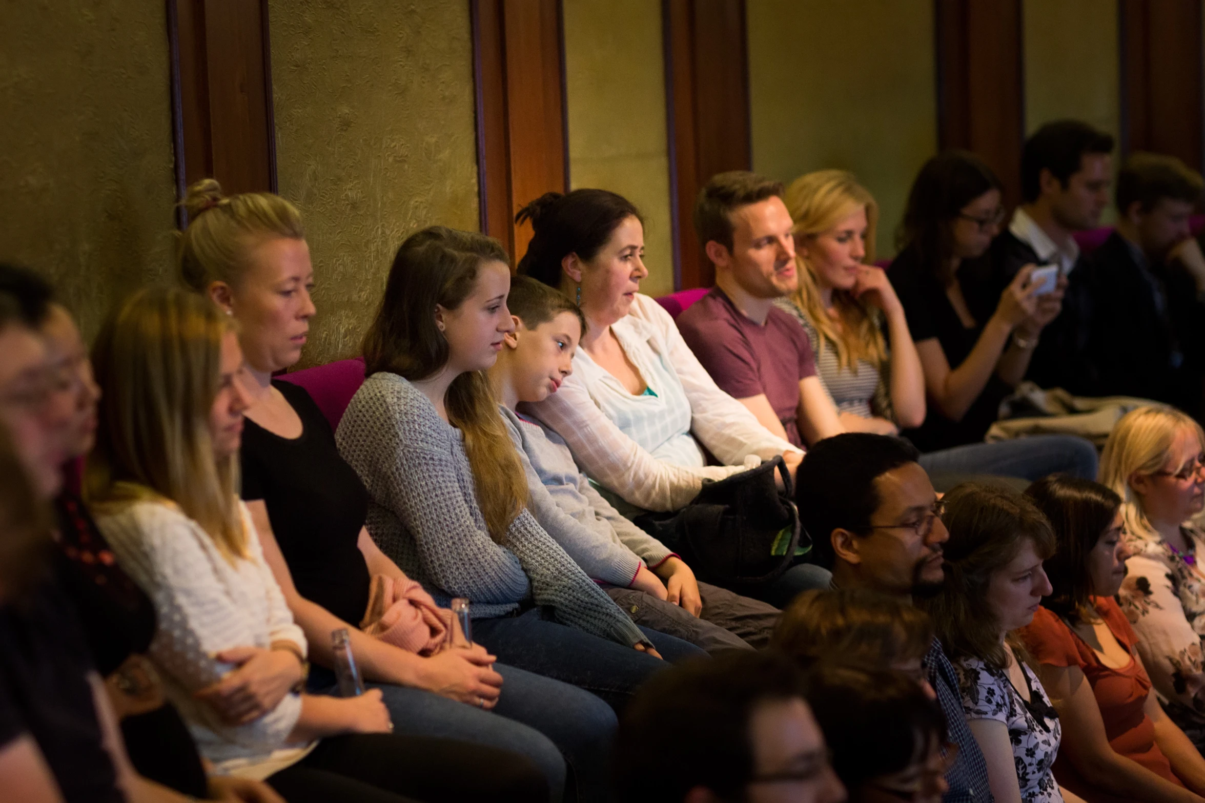
<instances>
[{"instance_id":1,"label":"long brown hair of the girl in the grey knit cardigan","mask_svg":"<svg viewBox=\"0 0 1205 803\"><path fill-rule=\"evenodd\" d=\"M406 238L389 268L376 318L364 335L365 373L425 379L448 361L447 338L435 326L435 307L455 309L472 293L481 266L509 262L493 237L429 226ZM528 502L527 476L506 433L498 400L483 371L462 373L445 396L448 423L464 435L477 506L496 543Z\"/></svg>"}]
</instances>

